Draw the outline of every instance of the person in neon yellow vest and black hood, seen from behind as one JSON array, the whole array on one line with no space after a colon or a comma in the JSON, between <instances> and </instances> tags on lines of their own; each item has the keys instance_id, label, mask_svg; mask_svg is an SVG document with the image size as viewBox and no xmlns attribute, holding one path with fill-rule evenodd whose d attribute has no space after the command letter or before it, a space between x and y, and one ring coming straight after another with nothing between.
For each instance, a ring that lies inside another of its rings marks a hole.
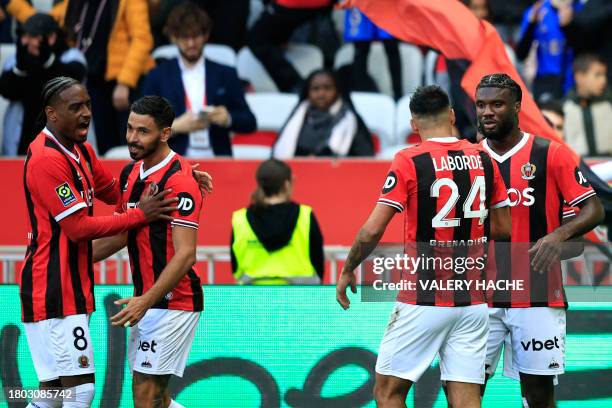
<instances>
[{"instance_id":1,"label":"person in neon yellow vest and black hood, seen from behind","mask_svg":"<svg viewBox=\"0 0 612 408\"><path fill-rule=\"evenodd\" d=\"M255 175L252 203L232 214L232 271L240 284L318 284L323 236L307 205L291 201L293 176L284 162L266 160Z\"/></svg>"}]
</instances>

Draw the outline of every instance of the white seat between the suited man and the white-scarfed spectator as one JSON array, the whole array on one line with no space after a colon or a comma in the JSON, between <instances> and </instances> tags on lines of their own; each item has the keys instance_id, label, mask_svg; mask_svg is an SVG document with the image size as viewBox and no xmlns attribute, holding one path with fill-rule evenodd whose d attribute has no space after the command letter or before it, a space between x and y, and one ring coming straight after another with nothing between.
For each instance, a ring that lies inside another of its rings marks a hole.
<instances>
[{"instance_id":1,"label":"white seat between the suited man and the white-scarfed spectator","mask_svg":"<svg viewBox=\"0 0 612 408\"><path fill-rule=\"evenodd\" d=\"M234 135L234 157L267 159L272 154L278 131L298 104L298 97L294 94L262 92L247 94L246 100L257 119L257 131Z\"/></svg>"}]
</instances>

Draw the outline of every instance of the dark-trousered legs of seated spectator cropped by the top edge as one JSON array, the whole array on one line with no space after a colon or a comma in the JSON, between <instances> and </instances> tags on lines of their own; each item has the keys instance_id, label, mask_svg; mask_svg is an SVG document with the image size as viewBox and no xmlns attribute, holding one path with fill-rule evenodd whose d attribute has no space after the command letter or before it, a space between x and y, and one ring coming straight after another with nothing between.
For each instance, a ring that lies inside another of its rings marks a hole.
<instances>
[{"instance_id":1,"label":"dark-trousered legs of seated spectator cropped by the top edge","mask_svg":"<svg viewBox=\"0 0 612 408\"><path fill-rule=\"evenodd\" d=\"M283 45L301 24L329 14L335 0L271 0L249 31L248 46L281 92L298 93L302 77L283 54Z\"/></svg>"}]
</instances>

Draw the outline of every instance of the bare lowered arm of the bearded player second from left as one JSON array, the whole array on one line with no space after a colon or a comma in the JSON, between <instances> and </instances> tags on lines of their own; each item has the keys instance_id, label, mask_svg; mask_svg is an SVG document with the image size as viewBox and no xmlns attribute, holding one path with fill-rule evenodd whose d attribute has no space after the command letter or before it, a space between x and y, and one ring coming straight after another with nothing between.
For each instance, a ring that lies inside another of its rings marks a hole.
<instances>
[{"instance_id":1,"label":"bare lowered arm of the bearded player second from left","mask_svg":"<svg viewBox=\"0 0 612 408\"><path fill-rule=\"evenodd\" d=\"M168 262L155 284L142 296L119 299L117 305L127 305L111 317L113 326L133 326L138 323L146 311L170 292L196 262L196 245L198 230L195 228L174 226L172 242L174 256Z\"/></svg>"}]
</instances>

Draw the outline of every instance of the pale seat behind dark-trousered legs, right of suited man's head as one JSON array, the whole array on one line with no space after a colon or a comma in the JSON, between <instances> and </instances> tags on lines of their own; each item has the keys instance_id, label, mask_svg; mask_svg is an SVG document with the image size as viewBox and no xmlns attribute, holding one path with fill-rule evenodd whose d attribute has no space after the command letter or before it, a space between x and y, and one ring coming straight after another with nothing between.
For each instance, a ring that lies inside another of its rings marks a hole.
<instances>
[{"instance_id":1,"label":"pale seat behind dark-trousered legs, right of suited man's head","mask_svg":"<svg viewBox=\"0 0 612 408\"><path fill-rule=\"evenodd\" d=\"M323 67L323 53L314 45L289 44L285 56L293 64L302 78L306 78L315 69ZM248 47L238 52L238 77L249 81L255 92L278 92L278 88L264 66Z\"/></svg>"}]
</instances>

